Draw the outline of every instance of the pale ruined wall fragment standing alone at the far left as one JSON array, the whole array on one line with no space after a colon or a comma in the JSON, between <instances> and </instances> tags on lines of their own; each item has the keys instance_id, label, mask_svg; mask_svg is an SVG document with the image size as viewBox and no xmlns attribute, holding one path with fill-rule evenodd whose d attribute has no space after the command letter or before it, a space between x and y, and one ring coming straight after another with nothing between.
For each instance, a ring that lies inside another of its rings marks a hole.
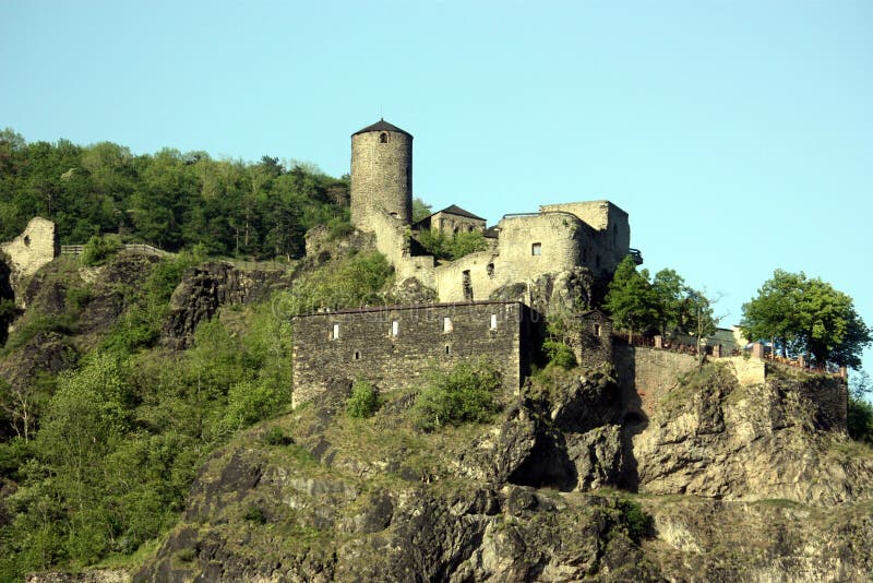
<instances>
[{"instance_id":1,"label":"pale ruined wall fragment standing alone at the far left","mask_svg":"<svg viewBox=\"0 0 873 583\"><path fill-rule=\"evenodd\" d=\"M24 307L21 298L24 297L22 286L25 281L60 254L55 223L38 216L32 218L21 235L0 243L0 253L7 258L9 282L16 301Z\"/></svg>"}]
</instances>

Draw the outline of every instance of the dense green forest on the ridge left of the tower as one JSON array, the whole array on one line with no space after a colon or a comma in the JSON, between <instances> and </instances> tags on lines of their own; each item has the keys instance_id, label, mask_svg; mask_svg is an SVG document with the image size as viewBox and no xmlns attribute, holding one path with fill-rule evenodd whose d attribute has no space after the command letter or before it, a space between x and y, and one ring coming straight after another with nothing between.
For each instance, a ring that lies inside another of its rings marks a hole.
<instances>
[{"instance_id":1,"label":"dense green forest on the ridge left of the tower","mask_svg":"<svg viewBox=\"0 0 873 583\"><path fill-rule=\"evenodd\" d=\"M0 132L0 240L38 215L57 224L62 245L117 233L168 251L201 245L208 254L299 257L306 230L345 221L347 201L347 179L271 156L134 155L111 142L27 143Z\"/></svg>"}]
</instances>

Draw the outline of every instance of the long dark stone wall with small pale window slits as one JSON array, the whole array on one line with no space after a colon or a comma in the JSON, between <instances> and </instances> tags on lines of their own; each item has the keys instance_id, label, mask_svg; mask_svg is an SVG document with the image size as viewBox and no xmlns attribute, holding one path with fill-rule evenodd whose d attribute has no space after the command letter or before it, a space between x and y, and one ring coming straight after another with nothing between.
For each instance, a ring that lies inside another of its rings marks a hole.
<instances>
[{"instance_id":1,"label":"long dark stone wall with small pale window slits","mask_svg":"<svg viewBox=\"0 0 873 583\"><path fill-rule=\"evenodd\" d=\"M447 319L447 320L446 320ZM436 304L294 318L294 404L361 378L382 391L415 386L429 367L486 357L506 390L529 371L538 318L521 302Z\"/></svg>"}]
</instances>

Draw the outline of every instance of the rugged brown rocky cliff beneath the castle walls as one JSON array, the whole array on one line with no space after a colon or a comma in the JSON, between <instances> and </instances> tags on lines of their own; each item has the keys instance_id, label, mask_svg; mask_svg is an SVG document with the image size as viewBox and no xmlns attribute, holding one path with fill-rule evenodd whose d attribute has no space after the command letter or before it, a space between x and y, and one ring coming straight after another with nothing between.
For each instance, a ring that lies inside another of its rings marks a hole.
<instances>
[{"instance_id":1,"label":"rugged brown rocky cliff beneath the castle walls","mask_svg":"<svg viewBox=\"0 0 873 583\"><path fill-rule=\"evenodd\" d=\"M336 386L216 453L134 579L864 581L870 451L785 389L716 368L641 427L608 370L550 369L497 423L424 433L414 395L354 420Z\"/></svg>"}]
</instances>

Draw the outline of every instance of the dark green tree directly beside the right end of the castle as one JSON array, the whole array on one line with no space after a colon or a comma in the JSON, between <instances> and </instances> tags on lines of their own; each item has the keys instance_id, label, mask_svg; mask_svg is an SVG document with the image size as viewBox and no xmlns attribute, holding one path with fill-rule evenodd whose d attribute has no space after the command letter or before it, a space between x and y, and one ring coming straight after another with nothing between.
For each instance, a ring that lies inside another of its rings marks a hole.
<instances>
[{"instance_id":1,"label":"dark green tree directly beside the right end of the castle","mask_svg":"<svg viewBox=\"0 0 873 583\"><path fill-rule=\"evenodd\" d=\"M637 272L631 255L619 263L603 307L612 316L615 325L627 331L631 341L634 334L658 325L658 296L648 281L648 271Z\"/></svg>"}]
</instances>

